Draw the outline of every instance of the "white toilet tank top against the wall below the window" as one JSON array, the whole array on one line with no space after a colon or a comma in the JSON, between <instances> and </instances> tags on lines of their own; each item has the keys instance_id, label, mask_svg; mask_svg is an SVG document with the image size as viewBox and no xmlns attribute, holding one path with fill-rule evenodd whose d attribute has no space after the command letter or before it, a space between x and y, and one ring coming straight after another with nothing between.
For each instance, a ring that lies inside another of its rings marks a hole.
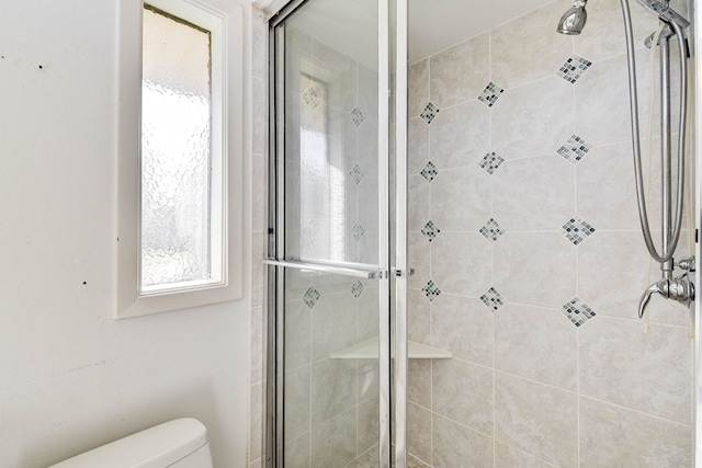
<instances>
[{"instance_id":1,"label":"white toilet tank top against the wall below the window","mask_svg":"<svg viewBox=\"0 0 702 468\"><path fill-rule=\"evenodd\" d=\"M207 430L183 418L128 435L49 468L213 468Z\"/></svg>"}]
</instances>

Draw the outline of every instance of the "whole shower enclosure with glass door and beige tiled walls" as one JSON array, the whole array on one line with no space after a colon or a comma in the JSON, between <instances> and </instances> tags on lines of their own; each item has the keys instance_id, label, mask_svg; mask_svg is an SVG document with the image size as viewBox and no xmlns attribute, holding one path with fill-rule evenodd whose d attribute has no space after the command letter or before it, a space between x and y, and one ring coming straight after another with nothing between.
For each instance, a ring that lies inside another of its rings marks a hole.
<instances>
[{"instance_id":1,"label":"whole shower enclosure with glass door and beige tiled walls","mask_svg":"<svg viewBox=\"0 0 702 468\"><path fill-rule=\"evenodd\" d=\"M690 310L653 295L648 333L637 313L659 274L620 1L589 1L578 36L555 31L569 0L499 21L465 3L484 27L419 55L445 31L408 18L444 2L294 0L271 19L267 466L693 466ZM658 21L631 14L647 115ZM667 178L660 140L643 129L647 187ZM698 249L694 205L676 259Z\"/></svg>"}]
</instances>

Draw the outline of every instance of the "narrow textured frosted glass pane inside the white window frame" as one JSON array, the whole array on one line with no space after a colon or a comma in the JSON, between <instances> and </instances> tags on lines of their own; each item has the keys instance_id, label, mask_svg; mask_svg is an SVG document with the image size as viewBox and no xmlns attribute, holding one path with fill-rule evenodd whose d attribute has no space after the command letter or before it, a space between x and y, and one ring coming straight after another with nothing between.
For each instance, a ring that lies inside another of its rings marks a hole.
<instances>
[{"instance_id":1,"label":"narrow textured frosted glass pane inside the white window frame","mask_svg":"<svg viewBox=\"0 0 702 468\"><path fill-rule=\"evenodd\" d=\"M219 281L213 272L211 33L144 7L141 293ZM220 241L219 241L220 242Z\"/></svg>"}]
</instances>

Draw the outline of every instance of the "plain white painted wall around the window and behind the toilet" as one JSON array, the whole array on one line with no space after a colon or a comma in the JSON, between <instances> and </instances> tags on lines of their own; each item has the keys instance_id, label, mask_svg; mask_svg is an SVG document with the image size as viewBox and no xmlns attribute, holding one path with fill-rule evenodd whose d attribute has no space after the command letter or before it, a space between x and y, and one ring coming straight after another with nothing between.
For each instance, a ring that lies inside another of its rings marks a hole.
<instances>
[{"instance_id":1,"label":"plain white painted wall around the window and behind the toilet","mask_svg":"<svg viewBox=\"0 0 702 468\"><path fill-rule=\"evenodd\" d=\"M242 467L249 294L112 319L116 4L2 1L0 466L45 467L190 415L207 425L217 467Z\"/></svg>"}]
</instances>

